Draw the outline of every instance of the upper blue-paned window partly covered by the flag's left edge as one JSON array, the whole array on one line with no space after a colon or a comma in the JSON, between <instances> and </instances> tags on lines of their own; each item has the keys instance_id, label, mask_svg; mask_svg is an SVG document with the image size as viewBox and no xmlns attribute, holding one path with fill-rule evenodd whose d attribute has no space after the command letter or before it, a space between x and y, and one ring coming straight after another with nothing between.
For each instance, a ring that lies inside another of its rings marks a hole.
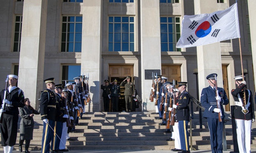
<instances>
[{"instance_id":1,"label":"upper blue-paned window partly covered by the flag's left edge","mask_svg":"<svg viewBox=\"0 0 256 153\"><path fill-rule=\"evenodd\" d=\"M181 37L180 17L160 17L161 51L181 51L176 43Z\"/></svg>"}]
</instances>

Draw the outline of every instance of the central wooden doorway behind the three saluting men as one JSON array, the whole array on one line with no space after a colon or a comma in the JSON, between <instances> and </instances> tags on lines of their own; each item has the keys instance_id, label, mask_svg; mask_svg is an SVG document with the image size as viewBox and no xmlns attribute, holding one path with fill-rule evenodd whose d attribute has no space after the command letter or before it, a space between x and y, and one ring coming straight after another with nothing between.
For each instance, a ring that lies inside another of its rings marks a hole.
<instances>
[{"instance_id":1,"label":"central wooden doorway behind the three saluting men","mask_svg":"<svg viewBox=\"0 0 256 153\"><path fill-rule=\"evenodd\" d=\"M133 65L109 65L110 82L117 80L117 84L120 85L124 81L126 76L131 76L133 82ZM118 102L118 111L125 111L125 99L124 99L124 86L120 86L121 96ZM112 111L112 104L110 100L110 111Z\"/></svg>"}]
</instances>

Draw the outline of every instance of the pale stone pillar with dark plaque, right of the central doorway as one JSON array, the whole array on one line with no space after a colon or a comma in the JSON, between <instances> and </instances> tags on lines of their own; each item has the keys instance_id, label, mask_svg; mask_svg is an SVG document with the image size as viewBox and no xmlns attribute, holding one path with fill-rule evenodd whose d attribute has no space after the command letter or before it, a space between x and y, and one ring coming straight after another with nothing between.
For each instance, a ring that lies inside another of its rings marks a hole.
<instances>
[{"instance_id":1,"label":"pale stone pillar with dark plaque, right of the central doorway","mask_svg":"<svg viewBox=\"0 0 256 153\"><path fill-rule=\"evenodd\" d=\"M152 80L145 80L145 70L161 70L159 0L140 0L141 11L141 96L144 110L155 110L149 95ZM150 14L150 15L149 15Z\"/></svg>"}]
</instances>

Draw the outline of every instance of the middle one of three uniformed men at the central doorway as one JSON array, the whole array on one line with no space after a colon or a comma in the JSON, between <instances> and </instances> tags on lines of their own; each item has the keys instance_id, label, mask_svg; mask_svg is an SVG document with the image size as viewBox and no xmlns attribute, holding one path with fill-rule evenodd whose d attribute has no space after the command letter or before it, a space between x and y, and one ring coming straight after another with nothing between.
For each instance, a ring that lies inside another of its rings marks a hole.
<instances>
[{"instance_id":1,"label":"middle one of three uniformed men at the central doorway","mask_svg":"<svg viewBox=\"0 0 256 153\"><path fill-rule=\"evenodd\" d=\"M120 86L117 84L116 79L113 82L111 82L110 91L112 111L115 112L118 111L118 102L120 97Z\"/></svg>"}]
</instances>

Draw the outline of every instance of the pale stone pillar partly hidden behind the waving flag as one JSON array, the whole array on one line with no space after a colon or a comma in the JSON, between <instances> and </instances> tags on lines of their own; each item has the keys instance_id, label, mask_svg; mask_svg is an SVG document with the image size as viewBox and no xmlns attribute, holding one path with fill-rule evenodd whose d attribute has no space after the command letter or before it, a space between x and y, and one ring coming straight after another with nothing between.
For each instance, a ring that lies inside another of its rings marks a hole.
<instances>
[{"instance_id":1,"label":"pale stone pillar partly hidden behind the waving flag","mask_svg":"<svg viewBox=\"0 0 256 153\"><path fill-rule=\"evenodd\" d=\"M210 6L210 7L205 7ZM195 14L212 13L217 11L215 0L194 0ZM197 47L197 64L199 78L199 94L202 89L209 86L206 76L217 73L217 85L223 87L221 67L221 46L220 43L212 43Z\"/></svg>"}]
</instances>

